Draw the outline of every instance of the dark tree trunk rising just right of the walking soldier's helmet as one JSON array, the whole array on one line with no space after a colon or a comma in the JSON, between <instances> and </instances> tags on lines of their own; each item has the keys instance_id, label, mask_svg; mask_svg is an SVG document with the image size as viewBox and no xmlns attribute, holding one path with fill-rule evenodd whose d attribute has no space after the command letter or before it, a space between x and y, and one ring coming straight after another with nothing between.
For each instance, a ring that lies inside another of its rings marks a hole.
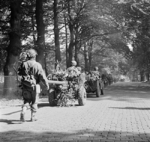
<instances>
[{"instance_id":1,"label":"dark tree trunk rising just right of the walking soldier's helmet","mask_svg":"<svg viewBox=\"0 0 150 142\"><path fill-rule=\"evenodd\" d=\"M45 69L45 26L43 23L43 0L36 0L36 23L37 23L37 61Z\"/></svg>"}]
</instances>

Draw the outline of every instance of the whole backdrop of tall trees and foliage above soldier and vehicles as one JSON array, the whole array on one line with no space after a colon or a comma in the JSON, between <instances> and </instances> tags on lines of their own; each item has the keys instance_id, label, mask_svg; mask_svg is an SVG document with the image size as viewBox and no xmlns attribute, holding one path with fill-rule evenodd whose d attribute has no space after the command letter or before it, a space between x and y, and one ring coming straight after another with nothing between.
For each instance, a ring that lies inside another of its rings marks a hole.
<instances>
[{"instance_id":1,"label":"whole backdrop of tall trees and foliage above soldier and vehicles","mask_svg":"<svg viewBox=\"0 0 150 142\"><path fill-rule=\"evenodd\" d=\"M34 48L46 74L76 60L127 75L150 70L148 0L2 0L0 70L15 75L19 54ZM132 48L129 48L132 47Z\"/></svg>"}]
</instances>

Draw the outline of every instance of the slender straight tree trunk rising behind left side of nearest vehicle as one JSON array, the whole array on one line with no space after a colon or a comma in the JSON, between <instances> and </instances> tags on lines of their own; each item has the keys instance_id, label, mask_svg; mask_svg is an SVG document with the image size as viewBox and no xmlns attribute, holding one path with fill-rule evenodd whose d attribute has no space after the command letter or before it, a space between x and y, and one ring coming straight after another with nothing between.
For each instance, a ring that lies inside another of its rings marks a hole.
<instances>
[{"instance_id":1,"label":"slender straight tree trunk rising behind left side of nearest vehicle","mask_svg":"<svg viewBox=\"0 0 150 142\"><path fill-rule=\"evenodd\" d=\"M54 0L54 36L55 36L55 62L61 61L60 43L59 43L59 26L58 26L58 0Z\"/></svg>"}]
</instances>

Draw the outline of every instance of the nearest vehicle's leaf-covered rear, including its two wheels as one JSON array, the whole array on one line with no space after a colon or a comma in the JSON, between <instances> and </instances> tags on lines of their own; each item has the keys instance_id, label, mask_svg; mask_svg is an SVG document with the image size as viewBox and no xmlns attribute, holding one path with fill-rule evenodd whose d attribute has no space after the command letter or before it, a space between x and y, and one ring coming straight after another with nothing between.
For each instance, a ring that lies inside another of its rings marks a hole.
<instances>
[{"instance_id":1,"label":"nearest vehicle's leaf-covered rear, including its two wheels","mask_svg":"<svg viewBox=\"0 0 150 142\"><path fill-rule=\"evenodd\" d=\"M68 106L74 105L78 99L79 105L84 105L86 99L86 91L84 84L80 83L82 74L75 74L72 72L68 74L67 71L56 71L48 76L49 80L66 81L66 84L51 84L49 102L50 105ZM84 82L84 81L83 81ZM80 85L79 85L80 84ZM82 90L82 91L81 91ZM53 96L53 97L52 97ZM84 101L84 102L83 102Z\"/></svg>"}]
</instances>

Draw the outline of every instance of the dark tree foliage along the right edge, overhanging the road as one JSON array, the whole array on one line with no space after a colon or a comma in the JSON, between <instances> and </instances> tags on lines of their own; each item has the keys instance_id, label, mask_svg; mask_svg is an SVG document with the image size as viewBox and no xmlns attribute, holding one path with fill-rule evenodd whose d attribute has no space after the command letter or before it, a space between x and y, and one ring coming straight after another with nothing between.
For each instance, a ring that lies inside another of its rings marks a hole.
<instances>
[{"instance_id":1,"label":"dark tree foliage along the right edge, overhanging the road","mask_svg":"<svg viewBox=\"0 0 150 142\"><path fill-rule=\"evenodd\" d=\"M150 59L150 24L149 24L149 6L147 0L126 1L120 4L122 7L122 17L126 32L125 38L132 44L133 53L132 60L136 70L141 75L141 80L144 80L145 74L149 76ZM147 77L149 80L149 77Z\"/></svg>"}]
</instances>

